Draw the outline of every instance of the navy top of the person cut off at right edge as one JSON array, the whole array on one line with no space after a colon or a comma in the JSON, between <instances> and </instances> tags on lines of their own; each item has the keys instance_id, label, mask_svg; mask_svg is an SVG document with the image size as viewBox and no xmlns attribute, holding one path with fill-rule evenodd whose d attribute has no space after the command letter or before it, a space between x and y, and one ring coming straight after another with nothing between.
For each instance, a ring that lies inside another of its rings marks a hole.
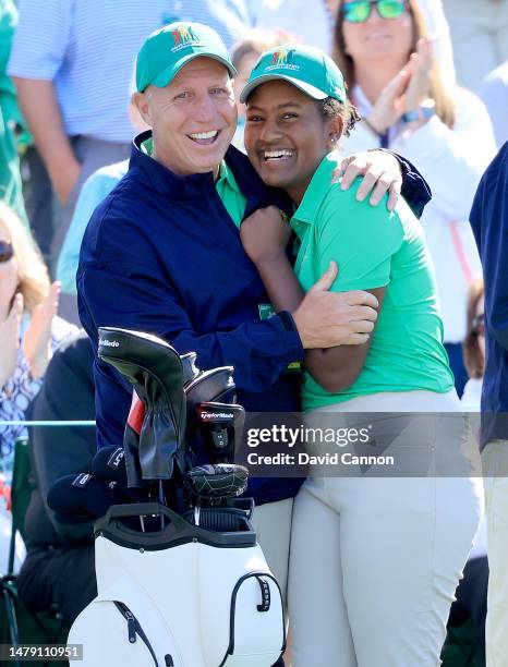
<instances>
[{"instance_id":1,"label":"navy top of the person cut off at right edge","mask_svg":"<svg viewBox=\"0 0 508 667\"><path fill-rule=\"evenodd\" d=\"M508 143L480 181L471 210L485 282L482 444L508 438Z\"/></svg>"}]
</instances>

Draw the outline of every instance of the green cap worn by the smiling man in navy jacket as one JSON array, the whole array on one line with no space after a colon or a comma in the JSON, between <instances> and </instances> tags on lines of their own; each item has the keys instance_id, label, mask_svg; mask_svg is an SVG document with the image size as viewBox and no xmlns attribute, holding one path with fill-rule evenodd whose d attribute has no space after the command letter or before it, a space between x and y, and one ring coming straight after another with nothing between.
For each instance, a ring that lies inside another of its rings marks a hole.
<instances>
[{"instance_id":1,"label":"green cap worn by the smiling man in navy jacket","mask_svg":"<svg viewBox=\"0 0 508 667\"><path fill-rule=\"evenodd\" d=\"M152 33L137 53L138 93L150 84L164 88L184 64L201 56L214 58L228 69L231 76L237 76L223 41L207 25L179 21Z\"/></svg>"}]
</instances>

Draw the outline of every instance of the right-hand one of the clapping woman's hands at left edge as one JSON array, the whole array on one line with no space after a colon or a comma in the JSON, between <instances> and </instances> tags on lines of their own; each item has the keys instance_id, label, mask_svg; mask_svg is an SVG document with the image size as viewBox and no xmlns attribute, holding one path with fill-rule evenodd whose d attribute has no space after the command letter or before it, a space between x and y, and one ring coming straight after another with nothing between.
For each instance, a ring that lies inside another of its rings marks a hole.
<instances>
[{"instance_id":1,"label":"right-hand one of the clapping woman's hands at left edge","mask_svg":"<svg viewBox=\"0 0 508 667\"><path fill-rule=\"evenodd\" d=\"M58 311L59 299L60 282L53 282L46 300L34 308L26 329L23 350L34 378L45 374L51 359L51 324Z\"/></svg>"}]
</instances>

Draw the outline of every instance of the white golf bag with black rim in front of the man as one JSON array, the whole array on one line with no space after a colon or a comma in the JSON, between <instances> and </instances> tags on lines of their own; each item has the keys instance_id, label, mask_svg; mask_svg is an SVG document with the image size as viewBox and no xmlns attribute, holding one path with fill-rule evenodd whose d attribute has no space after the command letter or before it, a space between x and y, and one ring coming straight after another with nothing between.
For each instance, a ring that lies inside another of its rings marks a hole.
<instances>
[{"instance_id":1,"label":"white golf bag with black rim in front of the man","mask_svg":"<svg viewBox=\"0 0 508 667\"><path fill-rule=\"evenodd\" d=\"M214 510L218 512L219 510ZM84 667L269 667L285 650L281 595L245 513L229 532L193 525L154 504L112 506L96 523L96 599L69 643ZM136 534L128 516L161 513L166 527Z\"/></svg>"}]
</instances>

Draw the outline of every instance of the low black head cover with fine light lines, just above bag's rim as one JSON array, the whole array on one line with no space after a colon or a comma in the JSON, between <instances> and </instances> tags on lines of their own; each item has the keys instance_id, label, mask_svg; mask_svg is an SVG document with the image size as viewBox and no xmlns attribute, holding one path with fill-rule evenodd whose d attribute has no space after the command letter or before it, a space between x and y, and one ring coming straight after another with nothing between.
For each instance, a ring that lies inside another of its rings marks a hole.
<instances>
[{"instance_id":1,"label":"low black head cover with fine light lines, just above bag's rim","mask_svg":"<svg viewBox=\"0 0 508 667\"><path fill-rule=\"evenodd\" d=\"M241 496L247 482L247 469L234 463L196 465L185 475L185 485L191 494L208 500Z\"/></svg>"}]
</instances>

